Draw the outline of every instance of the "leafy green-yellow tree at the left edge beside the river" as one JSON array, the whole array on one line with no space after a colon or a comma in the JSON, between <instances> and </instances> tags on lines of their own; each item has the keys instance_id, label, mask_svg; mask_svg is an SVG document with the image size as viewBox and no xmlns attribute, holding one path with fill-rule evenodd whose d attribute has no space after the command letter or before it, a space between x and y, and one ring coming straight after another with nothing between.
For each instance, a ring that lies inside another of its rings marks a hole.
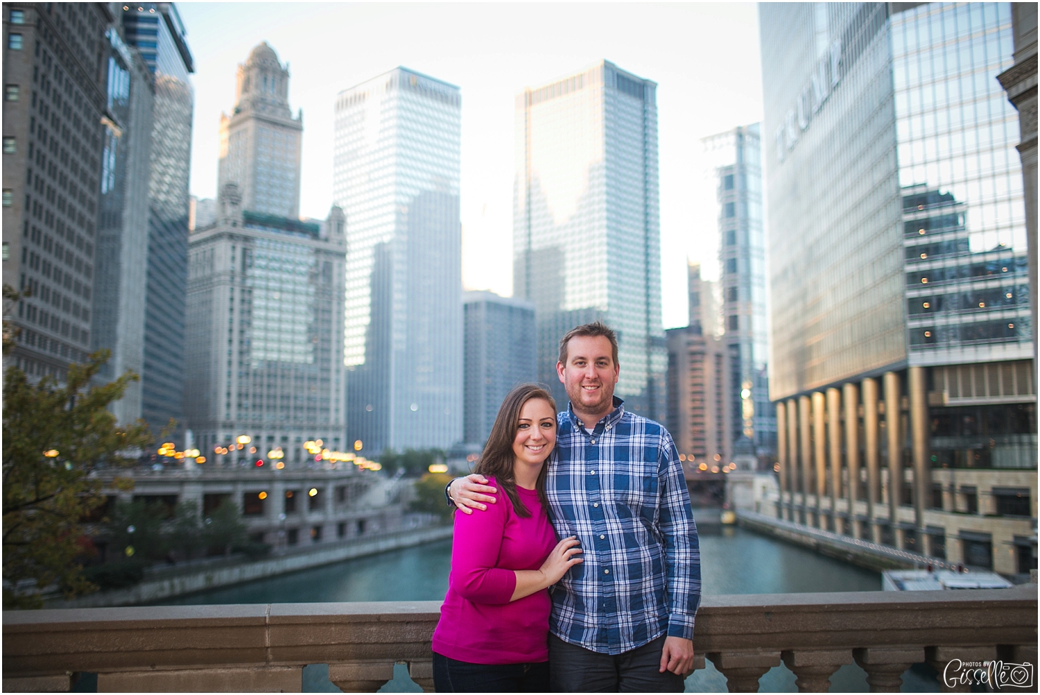
<instances>
[{"instance_id":1,"label":"leafy green-yellow tree at the left edge beside the river","mask_svg":"<svg viewBox=\"0 0 1040 695\"><path fill-rule=\"evenodd\" d=\"M93 591L76 562L82 519L104 501L101 466L132 464L151 443L144 420L123 427L108 405L137 376L92 386L108 351L69 367L64 383L47 376L30 383L17 367L3 387L3 604L38 608L41 592L54 584L66 597ZM116 478L115 487L133 481Z\"/></svg>"}]
</instances>

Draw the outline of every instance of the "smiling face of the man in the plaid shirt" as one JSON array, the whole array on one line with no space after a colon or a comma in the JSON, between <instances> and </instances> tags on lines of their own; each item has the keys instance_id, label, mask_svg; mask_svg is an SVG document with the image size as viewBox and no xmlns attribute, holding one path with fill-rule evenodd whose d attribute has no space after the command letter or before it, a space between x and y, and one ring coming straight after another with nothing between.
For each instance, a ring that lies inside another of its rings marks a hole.
<instances>
[{"instance_id":1,"label":"smiling face of the man in the plaid shirt","mask_svg":"<svg viewBox=\"0 0 1040 695\"><path fill-rule=\"evenodd\" d=\"M618 371L610 341L601 335L571 338L567 343L567 364L556 362L556 374L567 388L567 396L576 409L588 413L610 411Z\"/></svg>"}]
</instances>

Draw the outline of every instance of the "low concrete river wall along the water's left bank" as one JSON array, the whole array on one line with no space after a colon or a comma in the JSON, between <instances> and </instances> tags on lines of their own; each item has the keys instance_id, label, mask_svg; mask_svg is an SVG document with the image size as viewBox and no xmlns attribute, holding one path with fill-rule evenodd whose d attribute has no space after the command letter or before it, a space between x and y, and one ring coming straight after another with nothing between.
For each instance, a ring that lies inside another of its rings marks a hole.
<instances>
[{"instance_id":1,"label":"low concrete river wall along the water's left bank","mask_svg":"<svg viewBox=\"0 0 1040 695\"><path fill-rule=\"evenodd\" d=\"M87 594L71 601L47 601L52 609L101 608L133 606L180 596L197 591L227 587L310 567L330 565L343 560L396 550L450 538L451 524L427 526L414 531L358 538L342 543L318 545L306 550L274 556L262 560L243 561L216 567L187 568L185 572L146 576L140 584L128 589Z\"/></svg>"}]
</instances>

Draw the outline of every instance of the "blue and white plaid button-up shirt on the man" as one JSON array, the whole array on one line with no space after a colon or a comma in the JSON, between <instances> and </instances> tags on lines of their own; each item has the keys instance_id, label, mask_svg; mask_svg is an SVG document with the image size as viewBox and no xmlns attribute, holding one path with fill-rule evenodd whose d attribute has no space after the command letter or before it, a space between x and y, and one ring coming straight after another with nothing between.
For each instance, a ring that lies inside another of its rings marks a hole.
<instances>
[{"instance_id":1,"label":"blue and white plaid button-up shirt on the man","mask_svg":"<svg viewBox=\"0 0 1040 695\"><path fill-rule=\"evenodd\" d=\"M584 562L552 589L549 630L620 654L666 632L694 638L701 559L682 466L668 431L614 411L590 435L568 406L557 415L546 493L560 538L577 536Z\"/></svg>"}]
</instances>

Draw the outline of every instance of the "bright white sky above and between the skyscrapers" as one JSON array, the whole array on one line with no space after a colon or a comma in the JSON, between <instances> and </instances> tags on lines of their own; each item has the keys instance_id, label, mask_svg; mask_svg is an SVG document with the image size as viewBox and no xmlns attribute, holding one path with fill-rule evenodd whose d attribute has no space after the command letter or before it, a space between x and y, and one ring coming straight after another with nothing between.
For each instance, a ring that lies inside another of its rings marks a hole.
<instances>
[{"instance_id":1,"label":"bright white sky above and between the skyscrapers","mask_svg":"<svg viewBox=\"0 0 1040 695\"><path fill-rule=\"evenodd\" d=\"M658 84L661 298L686 325L686 261L718 277L714 186L701 138L761 119L752 3L177 4L194 57L191 194L216 192L217 128L237 66L266 41L303 109L301 215L332 205L336 95L398 66L462 89L463 284L513 292L514 98L600 59ZM349 225L349 221L347 221Z\"/></svg>"}]
</instances>

